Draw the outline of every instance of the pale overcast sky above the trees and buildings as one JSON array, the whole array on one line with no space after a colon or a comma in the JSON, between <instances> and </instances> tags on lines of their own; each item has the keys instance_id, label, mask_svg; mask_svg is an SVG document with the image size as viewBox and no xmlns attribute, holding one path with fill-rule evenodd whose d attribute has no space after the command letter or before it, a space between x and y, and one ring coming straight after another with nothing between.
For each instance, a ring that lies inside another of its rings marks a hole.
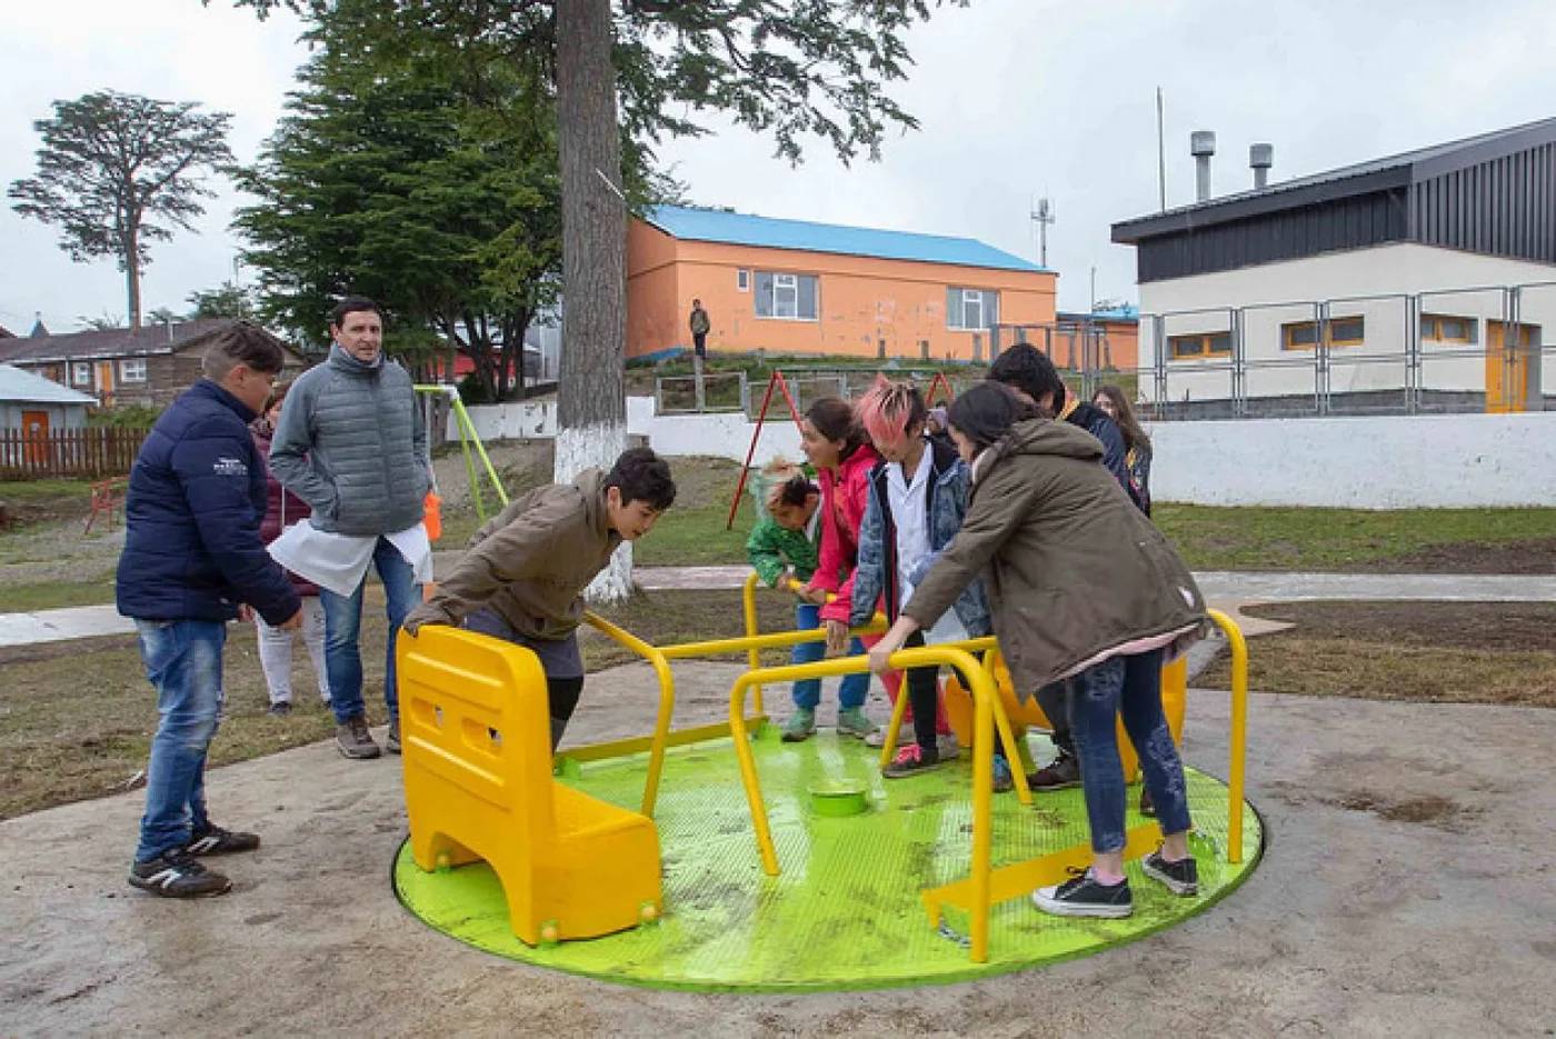
<instances>
[{"instance_id":1,"label":"pale overcast sky above the trees and buildings","mask_svg":"<svg viewBox=\"0 0 1556 1039\"><path fill-rule=\"evenodd\" d=\"M255 157L305 51L288 17L224 0L0 3L0 184L31 176L33 121L51 101L114 89L232 112ZM1273 180L1556 115L1556 5L1548 0L974 0L910 40L895 90L921 128L879 163L843 168L825 145L790 168L770 142L716 126L661 160L699 204L745 213L980 238L1036 257L1033 196L1052 199L1049 266L1060 306L1136 299L1133 249L1111 222L1158 205L1155 89L1165 95L1167 204L1192 201L1189 132L1218 137L1215 193L1251 184L1248 145L1274 145ZM199 233L156 243L145 310L185 310L232 277L240 204L219 184ZM246 278L249 275L244 275ZM123 316L110 260L72 263L58 233L0 212L0 325L25 334Z\"/></svg>"}]
</instances>

